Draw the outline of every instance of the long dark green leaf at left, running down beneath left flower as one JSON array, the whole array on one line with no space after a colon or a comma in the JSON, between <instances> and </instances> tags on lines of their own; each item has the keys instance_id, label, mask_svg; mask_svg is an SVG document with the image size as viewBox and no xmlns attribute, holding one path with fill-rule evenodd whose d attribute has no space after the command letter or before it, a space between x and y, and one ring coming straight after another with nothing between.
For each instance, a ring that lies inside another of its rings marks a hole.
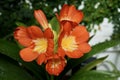
<instances>
[{"instance_id":1,"label":"long dark green leaf at left, running down beneath left flower","mask_svg":"<svg viewBox=\"0 0 120 80\"><path fill-rule=\"evenodd\" d=\"M30 70L37 78L39 79L42 79L42 77L46 78L46 75L43 74L45 73L45 70L35 62L30 63L24 62L19 56L19 51L20 48L18 47L17 44L7 40L0 39L0 53L22 63L22 66Z\"/></svg>"}]
</instances>

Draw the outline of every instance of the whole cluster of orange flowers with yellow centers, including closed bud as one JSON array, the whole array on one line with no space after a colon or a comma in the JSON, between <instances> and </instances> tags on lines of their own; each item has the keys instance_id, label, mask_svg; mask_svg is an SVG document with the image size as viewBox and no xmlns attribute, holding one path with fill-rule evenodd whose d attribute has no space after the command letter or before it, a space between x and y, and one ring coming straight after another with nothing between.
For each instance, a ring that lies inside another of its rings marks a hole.
<instances>
[{"instance_id":1,"label":"whole cluster of orange flowers with yellow centers, including closed bud","mask_svg":"<svg viewBox=\"0 0 120 80\"><path fill-rule=\"evenodd\" d=\"M20 51L24 61L36 60L39 65L46 65L49 74L58 76L67 64L66 57L80 58L91 50L89 33L79 25L83 13L75 6L65 4L60 14L56 14L60 26L58 34L48 24L42 10L35 10L34 16L43 30L38 26L19 26L14 31L14 38L24 46Z\"/></svg>"}]
</instances>

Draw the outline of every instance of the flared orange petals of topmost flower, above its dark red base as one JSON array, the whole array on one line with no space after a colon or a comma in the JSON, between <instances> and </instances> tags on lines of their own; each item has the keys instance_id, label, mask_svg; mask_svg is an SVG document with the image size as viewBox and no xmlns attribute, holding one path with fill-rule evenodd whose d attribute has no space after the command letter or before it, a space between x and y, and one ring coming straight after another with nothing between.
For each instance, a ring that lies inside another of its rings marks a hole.
<instances>
[{"instance_id":1,"label":"flared orange petals of topmost flower, above its dark red base","mask_svg":"<svg viewBox=\"0 0 120 80\"><path fill-rule=\"evenodd\" d=\"M60 22L69 21L74 24L79 24L83 19L83 13L80 10L77 10L74 5L64 4L60 16L57 15L57 18Z\"/></svg>"}]
</instances>

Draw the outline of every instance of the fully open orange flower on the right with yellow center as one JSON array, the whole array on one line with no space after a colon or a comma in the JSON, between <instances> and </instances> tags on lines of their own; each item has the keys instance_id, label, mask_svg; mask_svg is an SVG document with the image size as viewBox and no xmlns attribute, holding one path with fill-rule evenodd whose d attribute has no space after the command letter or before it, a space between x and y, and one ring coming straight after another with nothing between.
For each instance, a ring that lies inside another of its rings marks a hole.
<instances>
[{"instance_id":1,"label":"fully open orange flower on the right with yellow center","mask_svg":"<svg viewBox=\"0 0 120 80\"><path fill-rule=\"evenodd\" d=\"M70 58L80 58L84 53L91 50L90 45L87 43L89 33L84 26L76 26L70 31L61 35L59 42L59 50L64 52ZM63 55L63 53L60 53Z\"/></svg>"}]
</instances>

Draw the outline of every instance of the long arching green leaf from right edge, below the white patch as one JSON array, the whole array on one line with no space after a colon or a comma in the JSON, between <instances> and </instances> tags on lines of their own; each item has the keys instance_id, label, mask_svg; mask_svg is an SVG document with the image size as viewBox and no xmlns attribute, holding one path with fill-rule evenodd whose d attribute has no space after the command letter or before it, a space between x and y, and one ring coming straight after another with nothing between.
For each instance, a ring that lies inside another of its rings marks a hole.
<instances>
[{"instance_id":1,"label":"long arching green leaf from right edge, below the white patch","mask_svg":"<svg viewBox=\"0 0 120 80\"><path fill-rule=\"evenodd\" d=\"M120 40L110 40L110 41L105 41L99 44L96 44L92 46L92 50L85 54L83 57L79 59L70 59L67 63L67 66L65 67L64 71L61 73L61 75L58 78L61 78L64 76L70 69L74 68L75 66L79 65L83 61L87 60L88 58L92 57L95 54L98 54L99 52L108 49L110 47L116 46L120 44ZM73 65L74 63L74 65Z\"/></svg>"}]
</instances>

